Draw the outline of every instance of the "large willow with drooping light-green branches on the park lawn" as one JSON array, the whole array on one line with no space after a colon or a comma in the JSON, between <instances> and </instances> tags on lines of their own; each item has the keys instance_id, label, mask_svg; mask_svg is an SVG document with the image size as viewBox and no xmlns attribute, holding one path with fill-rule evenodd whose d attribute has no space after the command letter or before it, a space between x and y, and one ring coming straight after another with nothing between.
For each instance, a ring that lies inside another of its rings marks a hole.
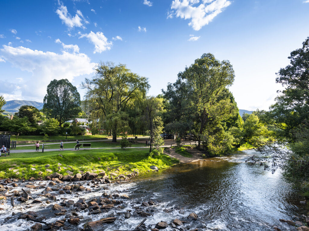
<instances>
[{"instance_id":1,"label":"large willow with drooping light-green branches on the park lawn","mask_svg":"<svg viewBox=\"0 0 309 231\"><path fill-rule=\"evenodd\" d=\"M138 98L145 98L148 79L131 72L125 64L99 63L95 75L82 83L91 114L111 130L112 142L128 128L126 108Z\"/></svg>"}]
</instances>

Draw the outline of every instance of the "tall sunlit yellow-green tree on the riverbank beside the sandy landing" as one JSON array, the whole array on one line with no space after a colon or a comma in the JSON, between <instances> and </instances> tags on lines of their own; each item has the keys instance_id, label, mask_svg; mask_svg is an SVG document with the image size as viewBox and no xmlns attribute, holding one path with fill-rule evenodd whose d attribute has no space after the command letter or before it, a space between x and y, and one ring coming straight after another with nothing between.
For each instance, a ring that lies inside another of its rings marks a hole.
<instances>
[{"instance_id":1,"label":"tall sunlit yellow-green tree on the riverbank beside the sandy landing","mask_svg":"<svg viewBox=\"0 0 309 231\"><path fill-rule=\"evenodd\" d=\"M197 138L198 148L201 141L207 146L207 137L216 131L215 126L228 120L235 111L235 104L226 94L234 78L229 61L219 61L208 53L180 72L176 82L169 83L167 91L163 91L171 105L171 117L190 124L189 131Z\"/></svg>"}]
</instances>

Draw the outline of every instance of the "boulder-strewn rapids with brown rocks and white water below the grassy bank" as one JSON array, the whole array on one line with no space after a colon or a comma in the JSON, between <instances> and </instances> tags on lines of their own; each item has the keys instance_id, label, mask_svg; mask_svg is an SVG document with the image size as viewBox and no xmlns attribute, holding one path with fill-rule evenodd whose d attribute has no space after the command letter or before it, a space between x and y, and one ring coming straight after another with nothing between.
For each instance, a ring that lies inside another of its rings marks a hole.
<instances>
[{"instance_id":1,"label":"boulder-strewn rapids with brown rocks and white water below the grassy bank","mask_svg":"<svg viewBox=\"0 0 309 231\"><path fill-rule=\"evenodd\" d=\"M152 166L152 171L158 171ZM129 183L139 174L84 172L63 176L57 172L43 180L6 179L0 181L1 230L197 230L205 226L195 213L181 208L164 208L159 198L130 198ZM156 213L177 211L172 220L158 220ZM145 222L152 217L151 222ZM138 223L138 225L136 225Z\"/></svg>"}]
</instances>

